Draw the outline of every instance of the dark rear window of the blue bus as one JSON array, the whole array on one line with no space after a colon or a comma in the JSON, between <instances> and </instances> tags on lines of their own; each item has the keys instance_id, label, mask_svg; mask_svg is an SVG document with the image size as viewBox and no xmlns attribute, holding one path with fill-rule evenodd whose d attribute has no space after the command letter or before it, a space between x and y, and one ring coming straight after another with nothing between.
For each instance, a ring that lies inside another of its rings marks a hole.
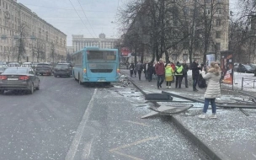
<instances>
[{"instance_id":1,"label":"dark rear window of the blue bus","mask_svg":"<svg viewBox=\"0 0 256 160\"><path fill-rule=\"evenodd\" d=\"M115 51L87 51L87 59L89 60L103 60L115 61Z\"/></svg>"}]
</instances>

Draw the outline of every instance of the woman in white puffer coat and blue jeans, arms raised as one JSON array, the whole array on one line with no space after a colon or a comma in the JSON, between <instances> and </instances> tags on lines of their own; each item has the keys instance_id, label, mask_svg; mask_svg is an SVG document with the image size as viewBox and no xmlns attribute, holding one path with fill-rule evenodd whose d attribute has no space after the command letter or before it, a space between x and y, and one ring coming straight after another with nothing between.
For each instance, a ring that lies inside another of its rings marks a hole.
<instances>
[{"instance_id":1,"label":"woman in white puffer coat and blue jeans, arms raised","mask_svg":"<svg viewBox=\"0 0 256 160\"><path fill-rule=\"evenodd\" d=\"M211 110L212 115L210 118L216 119L216 103L215 99L221 97L221 87L220 87L220 78L221 78L221 71L219 65L215 62L211 62L211 66L208 69L207 73L205 70L201 72L202 77L205 80L208 80L208 85L205 91L205 104L203 113L199 115L200 119L206 118L206 112L209 107L209 103L211 102Z\"/></svg>"}]
</instances>

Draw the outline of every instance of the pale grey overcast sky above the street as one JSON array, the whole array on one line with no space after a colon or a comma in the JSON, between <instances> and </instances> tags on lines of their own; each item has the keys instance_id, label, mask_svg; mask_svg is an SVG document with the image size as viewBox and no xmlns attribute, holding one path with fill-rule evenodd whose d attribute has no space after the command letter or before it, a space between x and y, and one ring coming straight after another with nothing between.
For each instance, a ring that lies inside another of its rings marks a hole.
<instances>
[{"instance_id":1,"label":"pale grey overcast sky above the street","mask_svg":"<svg viewBox=\"0 0 256 160\"><path fill-rule=\"evenodd\" d=\"M72 35L98 38L119 38L115 17L121 0L18 0L41 19L67 35L67 45L72 45ZM80 5L81 4L81 5ZM80 16L80 18L79 18Z\"/></svg>"}]
</instances>

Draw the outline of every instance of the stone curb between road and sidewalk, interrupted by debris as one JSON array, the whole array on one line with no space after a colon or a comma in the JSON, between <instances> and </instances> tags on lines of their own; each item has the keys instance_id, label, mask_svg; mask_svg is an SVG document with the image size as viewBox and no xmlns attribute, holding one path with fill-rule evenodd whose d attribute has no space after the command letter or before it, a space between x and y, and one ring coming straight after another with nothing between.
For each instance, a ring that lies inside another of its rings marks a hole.
<instances>
[{"instance_id":1,"label":"stone curb between road and sidewalk, interrupted by debris","mask_svg":"<svg viewBox=\"0 0 256 160\"><path fill-rule=\"evenodd\" d=\"M145 93L133 80L131 80L131 78L126 77L126 79L128 79L129 81L131 81L131 83L145 96L147 93ZM189 129L187 129L184 125L182 125L182 123L179 122L179 120L177 120L175 117L171 116L171 120L173 122L174 125L177 126L177 128L179 128L184 136L187 136L196 146L198 146L202 151L205 152L205 154L210 157L212 160L228 160L229 158L223 154L221 154L220 152L214 152L214 150L207 146L205 144L205 142L200 141L200 138L198 138L197 136L195 136L191 131L189 131Z\"/></svg>"}]
</instances>

